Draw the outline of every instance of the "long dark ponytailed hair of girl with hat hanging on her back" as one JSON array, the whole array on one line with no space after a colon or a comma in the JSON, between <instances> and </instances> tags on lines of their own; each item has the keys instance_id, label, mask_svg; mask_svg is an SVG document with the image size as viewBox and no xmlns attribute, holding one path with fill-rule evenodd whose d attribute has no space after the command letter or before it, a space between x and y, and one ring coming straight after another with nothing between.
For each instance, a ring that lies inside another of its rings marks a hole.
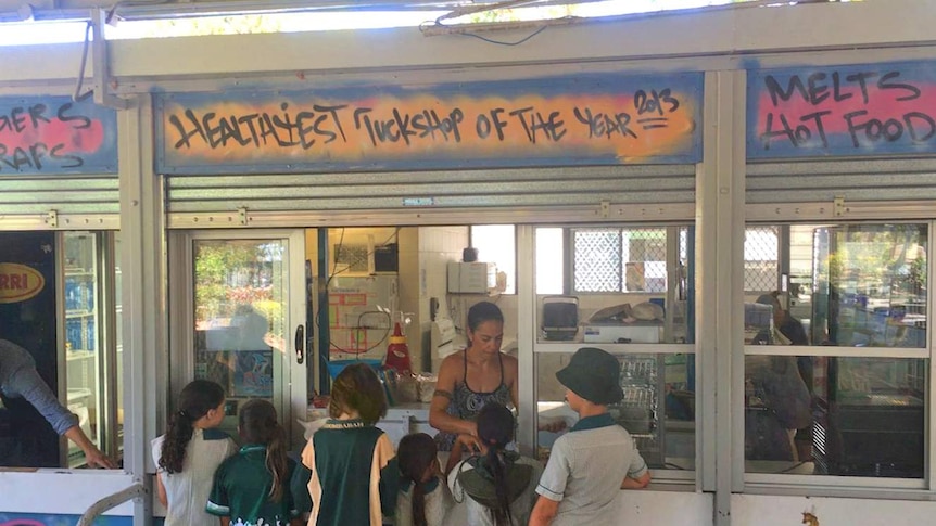
<instances>
[{"instance_id":1,"label":"long dark ponytailed hair of girl with hat hanging on her back","mask_svg":"<svg viewBox=\"0 0 936 526\"><path fill-rule=\"evenodd\" d=\"M507 490L504 448L514 439L514 413L504 406L490 402L478 413L478 438L488 447L485 466L494 478L497 506L489 508L496 526L514 524L510 516L510 497Z\"/></svg>"}]
</instances>

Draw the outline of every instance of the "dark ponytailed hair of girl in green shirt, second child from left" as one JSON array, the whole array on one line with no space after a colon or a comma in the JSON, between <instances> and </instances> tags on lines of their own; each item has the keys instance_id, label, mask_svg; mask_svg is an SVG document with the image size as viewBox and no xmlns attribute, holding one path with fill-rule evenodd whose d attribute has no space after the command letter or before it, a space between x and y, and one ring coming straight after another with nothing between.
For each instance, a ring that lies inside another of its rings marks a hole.
<instances>
[{"instance_id":1,"label":"dark ponytailed hair of girl in green shirt, second child from left","mask_svg":"<svg viewBox=\"0 0 936 526\"><path fill-rule=\"evenodd\" d=\"M258 398L248 400L240 410L238 425L244 441L266 446L266 469L273 475L269 498L279 501L289 464L286 457L286 429L276 420L276 408Z\"/></svg>"}]
</instances>

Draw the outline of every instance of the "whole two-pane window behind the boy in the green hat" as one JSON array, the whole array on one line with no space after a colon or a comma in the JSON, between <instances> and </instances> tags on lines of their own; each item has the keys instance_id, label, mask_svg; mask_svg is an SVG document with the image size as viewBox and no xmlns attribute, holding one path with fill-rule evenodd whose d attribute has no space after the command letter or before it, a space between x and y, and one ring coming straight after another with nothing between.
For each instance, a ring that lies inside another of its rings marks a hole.
<instances>
[{"instance_id":1,"label":"whole two-pane window behind the boy in the green hat","mask_svg":"<svg viewBox=\"0 0 936 526\"><path fill-rule=\"evenodd\" d=\"M652 470L694 478L692 224L533 229L536 452L546 460L577 415L555 373L580 347L618 357L624 398L610 407Z\"/></svg>"}]
</instances>

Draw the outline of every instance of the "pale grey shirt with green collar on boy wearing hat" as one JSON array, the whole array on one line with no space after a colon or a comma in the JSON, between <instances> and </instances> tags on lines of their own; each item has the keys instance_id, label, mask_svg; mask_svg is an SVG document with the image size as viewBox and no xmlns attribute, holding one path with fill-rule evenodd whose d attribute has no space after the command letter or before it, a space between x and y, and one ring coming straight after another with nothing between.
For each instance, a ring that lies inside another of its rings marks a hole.
<instances>
[{"instance_id":1,"label":"pale grey shirt with green collar on boy wearing hat","mask_svg":"<svg viewBox=\"0 0 936 526\"><path fill-rule=\"evenodd\" d=\"M646 472L631 435L604 413L580 420L556 439L536 492L559 502L552 526L612 524L624 477Z\"/></svg>"}]
</instances>

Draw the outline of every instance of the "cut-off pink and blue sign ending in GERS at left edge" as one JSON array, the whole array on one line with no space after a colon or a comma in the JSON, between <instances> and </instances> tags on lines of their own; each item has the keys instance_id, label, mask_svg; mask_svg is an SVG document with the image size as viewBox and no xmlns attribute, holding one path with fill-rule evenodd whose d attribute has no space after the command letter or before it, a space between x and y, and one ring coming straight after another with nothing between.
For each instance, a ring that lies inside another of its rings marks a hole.
<instances>
[{"instance_id":1,"label":"cut-off pink and blue sign ending in GERS at left edge","mask_svg":"<svg viewBox=\"0 0 936 526\"><path fill-rule=\"evenodd\" d=\"M0 177L116 171L113 110L66 97L0 98Z\"/></svg>"}]
</instances>

